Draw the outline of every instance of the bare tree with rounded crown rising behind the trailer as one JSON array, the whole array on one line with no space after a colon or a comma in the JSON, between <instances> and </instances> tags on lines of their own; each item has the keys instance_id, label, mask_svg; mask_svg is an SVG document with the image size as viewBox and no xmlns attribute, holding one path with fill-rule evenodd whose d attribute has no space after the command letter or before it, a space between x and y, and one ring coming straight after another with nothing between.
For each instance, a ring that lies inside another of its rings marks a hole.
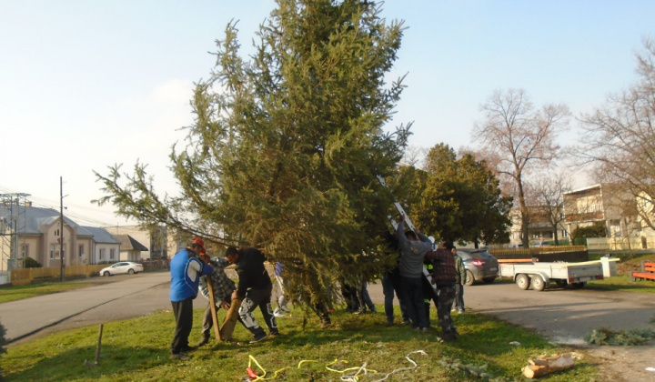
<instances>
[{"instance_id":1,"label":"bare tree with rounded crown rising behind the trailer","mask_svg":"<svg viewBox=\"0 0 655 382\"><path fill-rule=\"evenodd\" d=\"M529 210L523 188L524 177L538 166L548 166L559 153L555 142L559 131L568 126L569 107L545 105L535 108L523 89L497 90L480 106L484 122L476 124L473 139L479 141L483 156L495 158L500 176L516 185L514 200L519 202L521 241L529 245Z\"/></svg>"}]
</instances>

